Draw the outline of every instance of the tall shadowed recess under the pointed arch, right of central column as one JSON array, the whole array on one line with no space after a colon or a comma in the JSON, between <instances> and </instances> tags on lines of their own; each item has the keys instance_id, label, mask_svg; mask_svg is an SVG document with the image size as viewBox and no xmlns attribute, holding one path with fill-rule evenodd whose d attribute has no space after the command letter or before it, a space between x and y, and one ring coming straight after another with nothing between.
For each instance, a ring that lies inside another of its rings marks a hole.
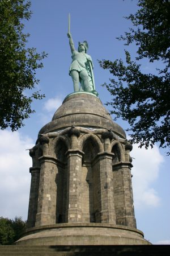
<instances>
[{"instance_id":1,"label":"tall shadowed recess under the pointed arch, right of central column","mask_svg":"<svg viewBox=\"0 0 170 256\"><path fill-rule=\"evenodd\" d=\"M88 137L83 145L83 159L82 159L82 221L96 222L95 208L96 208L96 193L95 193L95 173L92 164L95 156L99 152L97 143L94 139ZM97 189L96 189L97 190ZM99 195L97 194L97 197Z\"/></svg>"}]
</instances>

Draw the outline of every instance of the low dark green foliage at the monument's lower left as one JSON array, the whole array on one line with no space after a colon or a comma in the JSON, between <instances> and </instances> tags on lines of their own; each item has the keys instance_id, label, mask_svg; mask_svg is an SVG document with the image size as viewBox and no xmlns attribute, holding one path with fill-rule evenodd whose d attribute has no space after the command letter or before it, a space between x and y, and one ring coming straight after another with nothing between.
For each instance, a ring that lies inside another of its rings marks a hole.
<instances>
[{"instance_id":1,"label":"low dark green foliage at the monument's lower left","mask_svg":"<svg viewBox=\"0 0 170 256\"><path fill-rule=\"evenodd\" d=\"M21 217L14 220L0 217L0 245L11 245L25 232L26 222Z\"/></svg>"}]
</instances>

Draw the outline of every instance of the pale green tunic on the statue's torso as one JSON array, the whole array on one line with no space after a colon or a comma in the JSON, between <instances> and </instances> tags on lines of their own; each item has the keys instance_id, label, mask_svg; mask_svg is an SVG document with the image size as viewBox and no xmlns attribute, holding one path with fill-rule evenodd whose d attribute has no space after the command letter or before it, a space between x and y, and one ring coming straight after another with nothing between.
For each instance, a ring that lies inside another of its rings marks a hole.
<instances>
[{"instance_id":1,"label":"pale green tunic on the statue's torso","mask_svg":"<svg viewBox=\"0 0 170 256\"><path fill-rule=\"evenodd\" d=\"M78 72L81 72L83 70L87 71L87 69L86 69L87 57L91 58L86 53L81 53L81 52L78 52L78 51L75 50L73 52L73 55L71 56L73 61L70 65L69 75L71 74L72 70L76 70Z\"/></svg>"}]
</instances>

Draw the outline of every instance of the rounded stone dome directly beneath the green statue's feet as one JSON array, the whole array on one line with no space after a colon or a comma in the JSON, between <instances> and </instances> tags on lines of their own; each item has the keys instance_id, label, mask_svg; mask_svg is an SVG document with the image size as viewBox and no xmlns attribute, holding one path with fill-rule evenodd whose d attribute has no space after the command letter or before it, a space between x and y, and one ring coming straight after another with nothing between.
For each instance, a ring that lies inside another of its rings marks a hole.
<instances>
[{"instance_id":1,"label":"rounded stone dome directly beneath the green statue's feet","mask_svg":"<svg viewBox=\"0 0 170 256\"><path fill-rule=\"evenodd\" d=\"M100 99L91 93L71 93L57 109L52 121L40 130L40 134L58 131L74 126L92 129L113 129L121 138L126 138L121 126L112 121Z\"/></svg>"}]
</instances>

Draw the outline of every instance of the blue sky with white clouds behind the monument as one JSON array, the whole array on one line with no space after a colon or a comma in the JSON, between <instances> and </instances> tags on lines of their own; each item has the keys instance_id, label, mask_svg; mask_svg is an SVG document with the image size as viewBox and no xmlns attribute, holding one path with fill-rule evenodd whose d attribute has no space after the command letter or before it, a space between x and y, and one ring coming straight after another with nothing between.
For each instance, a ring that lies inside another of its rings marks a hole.
<instances>
[{"instance_id":1,"label":"blue sky with white clouds behind the monument","mask_svg":"<svg viewBox=\"0 0 170 256\"><path fill-rule=\"evenodd\" d=\"M12 133L0 131L0 216L27 220L32 160L28 154L37 139L42 126L50 122L63 99L73 92L69 76L71 52L67 38L68 14L71 15L71 34L78 41L88 42L88 54L94 62L96 90L105 104L111 101L107 89L101 85L112 78L108 71L100 68L97 60L124 59L124 43L116 37L124 34L131 26L124 16L135 13L136 0L32 0L32 18L25 22L25 32L31 35L28 47L37 52L45 51L48 57L44 68L37 71L40 79L37 90L45 94L41 101L35 101L36 110L25 126ZM135 56L135 46L129 47ZM156 64L143 60L143 72L155 72ZM28 93L28 92L25 92ZM106 106L109 110L109 108ZM124 129L128 123L119 119ZM128 134L127 134L128 136ZM170 244L170 170L169 157L157 145L152 149L138 148L133 151L133 196L137 228L145 234L146 240L155 244Z\"/></svg>"}]
</instances>

